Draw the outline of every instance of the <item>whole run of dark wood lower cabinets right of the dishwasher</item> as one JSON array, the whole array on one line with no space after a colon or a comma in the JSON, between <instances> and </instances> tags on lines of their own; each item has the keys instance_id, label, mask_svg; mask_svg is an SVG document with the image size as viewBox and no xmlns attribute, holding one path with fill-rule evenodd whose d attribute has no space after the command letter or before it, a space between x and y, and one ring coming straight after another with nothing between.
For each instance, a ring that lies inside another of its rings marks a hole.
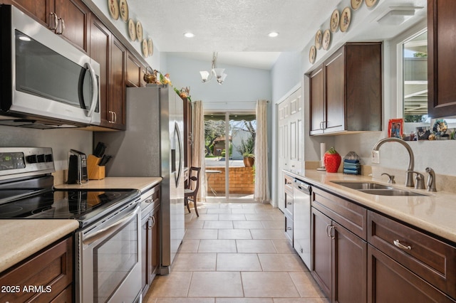
<instances>
[{"instance_id":1,"label":"whole run of dark wood lower cabinets right of the dishwasher","mask_svg":"<svg viewBox=\"0 0 456 303\"><path fill-rule=\"evenodd\" d=\"M312 187L311 274L331 302L456 302L456 247Z\"/></svg>"}]
</instances>

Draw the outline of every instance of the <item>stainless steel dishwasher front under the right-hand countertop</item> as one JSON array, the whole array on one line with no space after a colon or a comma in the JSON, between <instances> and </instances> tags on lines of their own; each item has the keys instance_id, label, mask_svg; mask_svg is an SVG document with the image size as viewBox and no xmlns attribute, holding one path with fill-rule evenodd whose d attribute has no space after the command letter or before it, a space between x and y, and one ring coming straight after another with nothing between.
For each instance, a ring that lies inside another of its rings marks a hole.
<instances>
[{"instance_id":1,"label":"stainless steel dishwasher front under the right-hand countertop","mask_svg":"<svg viewBox=\"0 0 456 303\"><path fill-rule=\"evenodd\" d=\"M311 186L294 179L293 184L294 249L311 269Z\"/></svg>"}]
</instances>

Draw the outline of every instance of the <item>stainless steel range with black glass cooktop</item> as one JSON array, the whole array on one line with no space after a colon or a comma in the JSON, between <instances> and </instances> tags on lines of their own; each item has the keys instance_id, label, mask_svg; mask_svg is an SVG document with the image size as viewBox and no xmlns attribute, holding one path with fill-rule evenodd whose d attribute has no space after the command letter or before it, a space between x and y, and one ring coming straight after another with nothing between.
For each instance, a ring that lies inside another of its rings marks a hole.
<instances>
[{"instance_id":1,"label":"stainless steel range with black glass cooktop","mask_svg":"<svg viewBox=\"0 0 456 303\"><path fill-rule=\"evenodd\" d=\"M0 147L0 218L78 220L76 302L141 300L140 193L59 190L51 148Z\"/></svg>"}]
</instances>

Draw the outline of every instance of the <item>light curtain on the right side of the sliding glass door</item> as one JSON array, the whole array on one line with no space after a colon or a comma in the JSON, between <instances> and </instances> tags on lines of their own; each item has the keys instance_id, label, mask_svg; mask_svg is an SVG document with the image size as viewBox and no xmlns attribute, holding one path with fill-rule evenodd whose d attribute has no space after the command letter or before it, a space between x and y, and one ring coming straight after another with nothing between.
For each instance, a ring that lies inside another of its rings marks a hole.
<instances>
[{"instance_id":1,"label":"light curtain on the right side of the sliding glass door","mask_svg":"<svg viewBox=\"0 0 456 303\"><path fill-rule=\"evenodd\" d=\"M267 101L257 101L257 137L255 139L254 200L269 202Z\"/></svg>"}]
</instances>

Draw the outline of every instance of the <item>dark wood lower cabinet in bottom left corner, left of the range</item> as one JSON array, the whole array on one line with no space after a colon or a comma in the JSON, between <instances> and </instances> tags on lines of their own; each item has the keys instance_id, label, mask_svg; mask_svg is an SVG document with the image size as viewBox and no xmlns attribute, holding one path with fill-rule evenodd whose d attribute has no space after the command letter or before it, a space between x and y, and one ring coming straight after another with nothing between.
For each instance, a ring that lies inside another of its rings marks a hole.
<instances>
[{"instance_id":1,"label":"dark wood lower cabinet in bottom left corner, left of the range","mask_svg":"<svg viewBox=\"0 0 456 303\"><path fill-rule=\"evenodd\" d=\"M61 240L3 272L0 285L14 289L2 289L0 302L73 302L73 241Z\"/></svg>"}]
</instances>

